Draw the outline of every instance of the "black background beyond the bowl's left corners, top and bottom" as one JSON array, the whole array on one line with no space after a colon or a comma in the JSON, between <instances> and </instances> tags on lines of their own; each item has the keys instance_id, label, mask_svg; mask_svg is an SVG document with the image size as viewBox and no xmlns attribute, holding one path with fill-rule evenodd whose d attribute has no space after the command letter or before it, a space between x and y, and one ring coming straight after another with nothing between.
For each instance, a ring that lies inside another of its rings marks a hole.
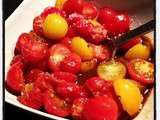
<instances>
[{"instance_id":1,"label":"black background beyond the bowl's left corners, top and bottom","mask_svg":"<svg viewBox=\"0 0 160 120\"><path fill-rule=\"evenodd\" d=\"M4 21L14 12L23 0L3 0ZM4 22L3 21L3 22ZM48 120L42 116L27 112L18 107L4 103L4 120Z\"/></svg>"}]
</instances>

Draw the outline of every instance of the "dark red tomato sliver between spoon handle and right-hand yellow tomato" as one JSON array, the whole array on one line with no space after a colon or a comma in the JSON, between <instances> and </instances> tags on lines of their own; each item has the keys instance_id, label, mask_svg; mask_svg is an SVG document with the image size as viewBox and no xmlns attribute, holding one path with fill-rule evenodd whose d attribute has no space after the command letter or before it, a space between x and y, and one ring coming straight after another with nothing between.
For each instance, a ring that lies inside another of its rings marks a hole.
<instances>
[{"instance_id":1,"label":"dark red tomato sliver between spoon handle and right-hand yellow tomato","mask_svg":"<svg viewBox=\"0 0 160 120\"><path fill-rule=\"evenodd\" d=\"M129 48L133 47L134 45L136 45L138 43L142 43L142 38L135 37L135 38L129 40L127 43L120 46L120 49L127 51L127 50L129 50Z\"/></svg>"}]
</instances>

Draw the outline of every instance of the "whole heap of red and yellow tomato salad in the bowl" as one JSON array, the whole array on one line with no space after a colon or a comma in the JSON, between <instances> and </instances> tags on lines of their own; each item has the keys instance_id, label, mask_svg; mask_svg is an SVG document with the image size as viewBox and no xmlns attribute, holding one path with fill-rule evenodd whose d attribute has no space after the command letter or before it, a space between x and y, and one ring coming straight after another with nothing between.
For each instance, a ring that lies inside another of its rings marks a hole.
<instances>
[{"instance_id":1,"label":"whole heap of red and yellow tomato salad in the bowl","mask_svg":"<svg viewBox=\"0 0 160 120\"><path fill-rule=\"evenodd\" d=\"M154 84L151 42L130 30L126 11L85 0L57 0L17 40L6 87L33 109L74 120L130 120Z\"/></svg>"}]
</instances>

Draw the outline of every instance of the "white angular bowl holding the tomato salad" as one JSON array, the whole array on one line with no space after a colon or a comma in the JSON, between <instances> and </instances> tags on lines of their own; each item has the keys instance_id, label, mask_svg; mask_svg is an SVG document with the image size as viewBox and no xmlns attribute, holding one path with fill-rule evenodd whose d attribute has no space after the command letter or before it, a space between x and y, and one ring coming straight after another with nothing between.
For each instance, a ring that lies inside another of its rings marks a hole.
<instances>
[{"instance_id":1,"label":"white angular bowl holding the tomato salad","mask_svg":"<svg viewBox=\"0 0 160 120\"><path fill-rule=\"evenodd\" d=\"M98 2L97 2L98 1ZM139 0L93 0L99 6L110 4L117 9L126 9L133 18L132 28L142 24L153 18L153 1ZM32 22L35 16L39 15L47 6L54 6L55 0L24 0L22 4L15 10L15 12L5 21L5 76L9 68L9 64L14 55L14 48L18 36L23 32L29 32L32 29ZM143 5L143 9L141 6ZM149 7L148 7L149 5ZM146 14L147 13L147 14ZM5 89L5 101L25 109L27 111L57 120L67 120L61 117L47 114L39 110L35 110L20 104L16 96L12 95ZM146 104L141 113L135 120L153 120L153 92L151 92Z\"/></svg>"}]
</instances>

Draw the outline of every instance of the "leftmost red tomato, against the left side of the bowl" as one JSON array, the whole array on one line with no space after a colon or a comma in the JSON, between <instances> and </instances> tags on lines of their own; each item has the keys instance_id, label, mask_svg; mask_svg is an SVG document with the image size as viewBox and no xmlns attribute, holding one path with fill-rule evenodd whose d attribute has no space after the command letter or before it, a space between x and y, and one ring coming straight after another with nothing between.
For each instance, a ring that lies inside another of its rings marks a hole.
<instances>
[{"instance_id":1,"label":"leftmost red tomato, against the left side of the bowl","mask_svg":"<svg viewBox=\"0 0 160 120\"><path fill-rule=\"evenodd\" d=\"M22 63L13 64L7 73L7 86L15 93L20 93L24 86L24 76L22 71Z\"/></svg>"}]
</instances>

